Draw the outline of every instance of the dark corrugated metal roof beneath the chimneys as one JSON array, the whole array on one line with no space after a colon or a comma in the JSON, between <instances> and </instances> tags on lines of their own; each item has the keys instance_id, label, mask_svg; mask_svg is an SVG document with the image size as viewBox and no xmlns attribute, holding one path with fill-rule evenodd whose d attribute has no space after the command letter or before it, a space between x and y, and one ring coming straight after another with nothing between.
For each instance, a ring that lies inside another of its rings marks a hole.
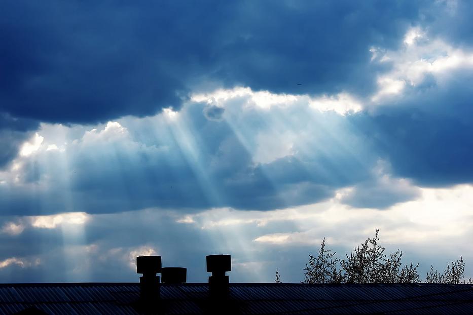
<instances>
[{"instance_id":1,"label":"dark corrugated metal roof beneath the chimneys","mask_svg":"<svg viewBox=\"0 0 473 315\"><path fill-rule=\"evenodd\" d=\"M218 307L242 314L471 314L473 286L230 284L221 302ZM208 284L163 284L159 303L163 313L206 313ZM33 306L49 314L139 314L139 285L0 284L0 313Z\"/></svg>"}]
</instances>

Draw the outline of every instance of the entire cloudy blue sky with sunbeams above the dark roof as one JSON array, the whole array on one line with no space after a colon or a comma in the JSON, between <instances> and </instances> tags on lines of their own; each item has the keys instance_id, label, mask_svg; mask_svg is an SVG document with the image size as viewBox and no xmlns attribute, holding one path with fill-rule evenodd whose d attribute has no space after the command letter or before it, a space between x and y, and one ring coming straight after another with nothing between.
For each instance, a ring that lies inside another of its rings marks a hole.
<instances>
[{"instance_id":1,"label":"entire cloudy blue sky with sunbeams above the dark roof","mask_svg":"<svg viewBox=\"0 0 473 315\"><path fill-rule=\"evenodd\" d=\"M0 282L304 279L322 238L473 276L470 1L2 1Z\"/></svg>"}]
</instances>

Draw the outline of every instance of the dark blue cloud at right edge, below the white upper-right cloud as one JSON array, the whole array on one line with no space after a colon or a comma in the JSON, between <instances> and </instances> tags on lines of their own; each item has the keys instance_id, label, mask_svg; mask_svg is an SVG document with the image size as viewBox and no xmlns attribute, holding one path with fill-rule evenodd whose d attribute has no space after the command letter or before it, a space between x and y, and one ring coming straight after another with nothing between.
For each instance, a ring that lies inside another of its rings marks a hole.
<instances>
[{"instance_id":1,"label":"dark blue cloud at right edge, below the white upper-right cloud","mask_svg":"<svg viewBox=\"0 0 473 315\"><path fill-rule=\"evenodd\" d=\"M462 69L450 77L441 86L411 89L374 115L350 117L394 175L422 186L473 182L472 75Z\"/></svg>"}]
</instances>

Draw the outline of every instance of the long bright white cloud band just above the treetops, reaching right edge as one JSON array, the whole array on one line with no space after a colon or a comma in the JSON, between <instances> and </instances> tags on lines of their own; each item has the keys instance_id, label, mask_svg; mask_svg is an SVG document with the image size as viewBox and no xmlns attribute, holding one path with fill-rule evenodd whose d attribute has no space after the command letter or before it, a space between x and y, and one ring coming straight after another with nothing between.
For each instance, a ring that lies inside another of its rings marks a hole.
<instances>
[{"instance_id":1,"label":"long bright white cloud band just above the treetops, reaching right edge","mask_svg":"<svg viewBox=\"0 0 473 315\"><path fill-rule=\"evenodd\" d=\"M396 244L400 248L407 245L419 251L442 248L462 254L459 250L469 248L467 240L472 236L473 185L417 189L420 190L417 199L384 211L348 207L341 203L339 194L329 201L301 207L273 211L222 208L190 217L206 230L261 231L253 238L257 244L317 245L327 237L332 245L350 247L366 240L379 228L384 244ZM293 231L278 231L281 225L277 222L287 222L284 226L294 226ZM452 242L457 248L451 247Z\"/></svg>"}]
</instances>

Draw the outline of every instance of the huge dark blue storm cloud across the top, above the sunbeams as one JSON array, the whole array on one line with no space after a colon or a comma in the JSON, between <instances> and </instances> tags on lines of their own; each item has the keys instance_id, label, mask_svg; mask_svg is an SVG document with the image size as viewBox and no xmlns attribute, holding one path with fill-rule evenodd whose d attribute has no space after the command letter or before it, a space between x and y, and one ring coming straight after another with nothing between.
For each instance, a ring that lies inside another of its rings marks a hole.
<instances>
[{"instance_id":1,"label":"huge dark blue storm cloud across the top, above the sunbeams","mask_svg":"<svg viewBox=\"0 0 473 315\"><path fill-rule=\"evenodd\" d=\"M418 5L3 2L0 109L94 123L179 108L192 87L363 94L370 46L395 46Z\"/></svg>"}]
</instances>

